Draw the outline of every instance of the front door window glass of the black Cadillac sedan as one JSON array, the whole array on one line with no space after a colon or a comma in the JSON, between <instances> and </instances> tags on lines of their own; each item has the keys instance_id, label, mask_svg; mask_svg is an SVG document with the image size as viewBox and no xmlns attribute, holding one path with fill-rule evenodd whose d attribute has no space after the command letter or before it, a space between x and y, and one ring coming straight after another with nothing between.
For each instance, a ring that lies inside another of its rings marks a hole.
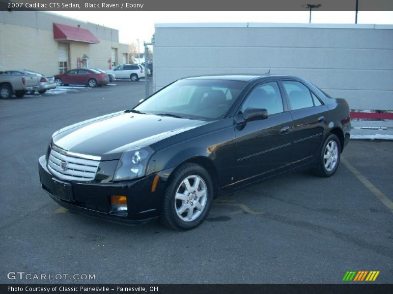
<instances>
[{"instance_id":1,"label":"front door window glass of the black Cadillac sedan","mask_svg":"<svg viewBox=\"0 0 393 294\"><path fill-rule=\"evenodd\" d=\"M242 112L247 108L265 108L269 115L284 111L282 98L277 82L270 82L256 86L246 98Z\"/></svg>"}]
</instances>

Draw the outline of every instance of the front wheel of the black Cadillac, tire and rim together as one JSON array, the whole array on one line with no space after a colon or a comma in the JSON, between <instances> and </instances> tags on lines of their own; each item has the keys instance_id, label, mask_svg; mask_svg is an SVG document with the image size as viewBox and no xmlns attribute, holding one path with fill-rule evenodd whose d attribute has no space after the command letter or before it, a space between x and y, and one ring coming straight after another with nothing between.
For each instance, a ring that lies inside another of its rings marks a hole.
<instances>
[{"instance_id":1,"label":"front wheel of the black Cadillac, tire and rim together","mask_svg":"<svg viewBox=\"0 0 393 294\"><path fill-rule=\"evenodd\" d=\"M186 188L186 181L189 189ZM209 172L195 163L181 165L165 190L161 222L179 231L196 228L209 214L213 194L214 185Z\"/></svg>"}]
</instances>

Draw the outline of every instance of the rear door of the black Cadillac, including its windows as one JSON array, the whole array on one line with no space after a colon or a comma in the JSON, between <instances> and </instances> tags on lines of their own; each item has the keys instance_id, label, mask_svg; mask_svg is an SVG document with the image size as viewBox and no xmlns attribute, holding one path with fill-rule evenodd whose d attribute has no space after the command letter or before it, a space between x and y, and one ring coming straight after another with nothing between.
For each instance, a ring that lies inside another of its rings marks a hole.
<instances>
[{"instance_id":1,"label":"rear door of the black Cadillac, including its windows","mask_svg":"<svg viewBox=\"0 0 393 294\"><path fill-rule=\"evenodd\" d=\"M324 138L328 108L300 81L283 80L282 87L293 118L293 161L299 166L317 154Z\"/></svg>"}]
</instances>

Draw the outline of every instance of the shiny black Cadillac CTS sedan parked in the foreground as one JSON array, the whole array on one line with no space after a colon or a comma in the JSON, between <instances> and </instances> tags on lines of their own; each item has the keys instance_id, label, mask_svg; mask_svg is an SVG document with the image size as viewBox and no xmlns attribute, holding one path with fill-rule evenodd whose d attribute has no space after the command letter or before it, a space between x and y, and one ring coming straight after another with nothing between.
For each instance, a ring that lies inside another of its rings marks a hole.
<instances>
[{"instance_id":1,"label":"shiny black Cadillac CTS sedan parked in the foreground","mask_svg":"<svg viewBox=\"0 0 393 294\"><path fill-rule=\"evenodd\" d=\"M189 77L56 131L39 174L71 211L187 230L221 194L300 169L333 175L349 132L347 102L302 78Z\"/></svg>"}]
</instances>

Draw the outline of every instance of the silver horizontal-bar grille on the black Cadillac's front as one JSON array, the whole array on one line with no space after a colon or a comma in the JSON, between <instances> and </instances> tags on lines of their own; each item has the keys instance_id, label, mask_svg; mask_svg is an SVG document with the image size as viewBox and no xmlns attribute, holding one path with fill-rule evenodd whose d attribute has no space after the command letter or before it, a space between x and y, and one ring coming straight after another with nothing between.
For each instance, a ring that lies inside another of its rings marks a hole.
<instances>
[{"instance_id":1,"label":"silver horizontal-bar grille on the black Cadillac's front","mask_svg":"<svg viewBox=\"0 0 393 294\"><path fill-rule=\"evenodd\" d=\"M62 162L66 162L65 169L61 168ZM60 179L71 181L93 180L99 164L100 161L62 154L53 148L48 158L48 170Z\"/></svg>"}]
</instances>

